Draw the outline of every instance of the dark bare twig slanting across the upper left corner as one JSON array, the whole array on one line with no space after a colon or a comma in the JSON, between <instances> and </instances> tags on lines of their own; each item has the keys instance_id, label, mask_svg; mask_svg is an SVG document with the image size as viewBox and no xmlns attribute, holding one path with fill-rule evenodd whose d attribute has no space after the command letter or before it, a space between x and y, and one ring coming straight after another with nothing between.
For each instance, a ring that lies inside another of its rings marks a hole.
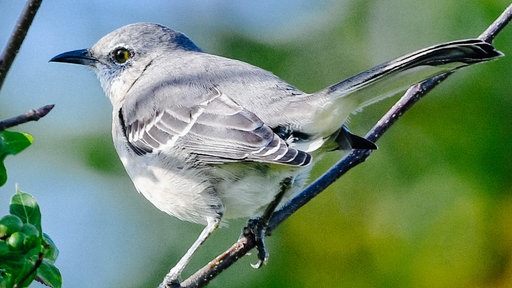
<instances>
[{"instance_id":1,"label":"dark bare twig slanting across the upper left corner","mask_svg":"<svg viewBox=\"0 0 512 288\"><path fill-rule=\"evenodd\" d=\"M7 72L11 68L16 54L18 54L20 50L21 44L27 35L28 28L30 28L32 20L34 20L39 6L41 6L41 2L42 0L30 0L27 2L9 38L9 42L2 51L2 55L0 55L0 89L2 89Z\"/></svg>"}]
</instances>

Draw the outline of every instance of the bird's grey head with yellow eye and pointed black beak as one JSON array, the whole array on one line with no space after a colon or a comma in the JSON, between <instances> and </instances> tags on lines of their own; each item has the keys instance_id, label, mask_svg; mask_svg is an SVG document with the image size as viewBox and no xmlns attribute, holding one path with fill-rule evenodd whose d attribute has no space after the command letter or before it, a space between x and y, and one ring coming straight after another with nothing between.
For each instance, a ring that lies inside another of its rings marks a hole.
<instances>
[{"instance_id":1,"label":"bird's grey head with yellow eye and pointed black beak","mask_svg":"<svg viewBox=\"0 0 512 288\"><path fill-rule=\"evenodd\" d=\"M124 95L153 60L181 51L200 51L184 34L153 23L121 27L101 38L89 49L59 54L50 62L91 67L112 103Z\"/></svg>"}]
</instances>

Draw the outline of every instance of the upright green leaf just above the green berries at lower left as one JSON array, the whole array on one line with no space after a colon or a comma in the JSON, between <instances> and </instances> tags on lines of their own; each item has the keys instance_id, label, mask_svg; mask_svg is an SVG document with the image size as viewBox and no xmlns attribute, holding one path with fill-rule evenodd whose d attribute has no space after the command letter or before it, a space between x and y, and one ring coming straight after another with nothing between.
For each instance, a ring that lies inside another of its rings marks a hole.
<instances>
[{"instance_id":1,"label":"upright green leaf just above the green berries at lower left","mask_svg":"<svg viewBox=\"0 0 512 288\"><path fill-rule=\"evenodd\" d=\"M43 230L41 229L41 211L39 210L36 199L32 195L16 189L16 193L11 198L9 211L12 215L20 217L23 223L34 225L37 230L39 230L39 234L43 235Z\"/></svg>"}]
</instances>

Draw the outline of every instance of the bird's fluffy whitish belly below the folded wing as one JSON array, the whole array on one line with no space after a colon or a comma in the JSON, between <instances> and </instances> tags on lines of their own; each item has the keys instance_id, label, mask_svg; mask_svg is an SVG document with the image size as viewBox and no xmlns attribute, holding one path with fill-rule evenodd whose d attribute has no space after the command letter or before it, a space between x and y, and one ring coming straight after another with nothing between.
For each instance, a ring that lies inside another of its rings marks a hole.
<instances>
[{"instance_id":1,"label":"bird's fluffy whitish belly below the folded wing","mask_svg":"<svg viewBox=\"0 0 512 288\"><path fill-rule=\"evenodd\" d=\"M181 220L207 224L207 218L233 219L261 214L291 177L286 198L300 191L311 166L237 162L188 166L160 155L137 156L116 147L135 188L159 210Z\"/></svg>"}]
</instances>

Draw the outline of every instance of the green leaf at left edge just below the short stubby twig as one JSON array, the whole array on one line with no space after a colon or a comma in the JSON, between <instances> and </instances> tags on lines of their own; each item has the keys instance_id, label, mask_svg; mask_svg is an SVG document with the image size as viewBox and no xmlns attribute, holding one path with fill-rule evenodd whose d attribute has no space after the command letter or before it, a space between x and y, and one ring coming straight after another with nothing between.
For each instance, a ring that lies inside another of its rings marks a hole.
<instances>
[{"instance_id":1,"label":"green leaf at left edge just below the short stubby twig","mask_svg":"<svg viewBox=\"0 0 512 288\"><path fill-rule=\"evenodd\" d=\"M0 131L0 186L7 181L4 160L7 155L16 155L30 146L34 138L26 133Z\"/></svg>"}]
</instances>

